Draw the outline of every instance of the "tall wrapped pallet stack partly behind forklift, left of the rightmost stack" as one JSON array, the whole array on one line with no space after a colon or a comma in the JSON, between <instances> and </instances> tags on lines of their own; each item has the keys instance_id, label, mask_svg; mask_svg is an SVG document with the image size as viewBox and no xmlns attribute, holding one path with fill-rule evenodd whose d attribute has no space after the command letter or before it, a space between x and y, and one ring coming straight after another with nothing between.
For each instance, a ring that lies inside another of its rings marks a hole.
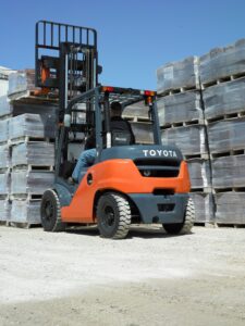
<instances>
[{"instance_id":1,"label":"tall wrapped pallet stack partly behind forklift, left of the rightmost stack","mask_svg":"<svg viewBox=\"0 0 245 326\"><path fill-rule=\"evenodd\" d=\"M162 143L176 145L188 163L196 223L209 224L213 199L198 65L191 57L158 68L158 112Z\"/></svg>"}]
</instances>

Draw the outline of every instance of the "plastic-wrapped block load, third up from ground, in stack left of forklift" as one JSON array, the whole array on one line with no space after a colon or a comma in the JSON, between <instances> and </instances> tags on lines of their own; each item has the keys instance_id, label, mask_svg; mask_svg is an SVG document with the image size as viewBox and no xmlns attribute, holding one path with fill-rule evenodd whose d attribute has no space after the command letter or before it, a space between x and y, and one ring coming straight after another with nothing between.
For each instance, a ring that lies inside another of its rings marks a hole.
<instances>
[{"instance_id":1,"label":"plastic-wrapped block load, third up from ground, in stack left of forklift","mask_svg":"<svg viewBox=\"0 0 245 326\"><path fill-rule=\"evenodd\" d=\"M13 146L12 166L16 165L53 166L54 145L42 141L32 141Z\"/></svg>"}]
</instances>

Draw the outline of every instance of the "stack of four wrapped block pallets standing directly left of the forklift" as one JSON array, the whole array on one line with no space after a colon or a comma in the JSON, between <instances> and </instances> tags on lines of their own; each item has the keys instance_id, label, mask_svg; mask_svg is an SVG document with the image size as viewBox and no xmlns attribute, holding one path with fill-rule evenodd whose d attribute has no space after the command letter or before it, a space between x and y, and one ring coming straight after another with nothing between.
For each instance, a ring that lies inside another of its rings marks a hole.
<instances>
[{"instance_id":1,"label":"stack of four wrapped block pallets standing directly left of the forklift","mask_svg":"<svg viewBox=\"0 0 245 326\"><path fill-rule=\"evenodd\" d=\"M41 195L54 180L54 145L45 141L54 137L53 118L28 113L10 120L11 223L40 224Z\"/></svg>"}]
</instances>

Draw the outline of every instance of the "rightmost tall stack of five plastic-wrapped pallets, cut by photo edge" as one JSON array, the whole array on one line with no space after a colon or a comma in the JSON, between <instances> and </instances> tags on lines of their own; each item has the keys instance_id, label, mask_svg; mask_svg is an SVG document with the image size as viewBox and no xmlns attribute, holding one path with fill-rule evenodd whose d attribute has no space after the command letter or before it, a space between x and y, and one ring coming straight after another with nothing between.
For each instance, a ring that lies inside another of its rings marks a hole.
<instances>
[{"instance_id":1,"label":"rightmost tall stack of five plastic-wrapped pallets, cut by photo edge","mask_svg":"<svg viewBox=\"0 0 245 326\"><path fill-rule=\"evenodd\" d=\"M245 40L200 58L216 223L245 224Z\"/></svg>"}]
</instances>

